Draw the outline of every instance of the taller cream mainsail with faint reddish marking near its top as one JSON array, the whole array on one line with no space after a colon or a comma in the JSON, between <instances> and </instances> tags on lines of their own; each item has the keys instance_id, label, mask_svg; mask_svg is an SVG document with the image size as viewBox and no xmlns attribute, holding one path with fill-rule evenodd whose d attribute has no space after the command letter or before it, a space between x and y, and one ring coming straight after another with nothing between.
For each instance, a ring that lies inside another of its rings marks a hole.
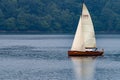
<instances>
[{"instance_id":1,"label":"taller cream mainsail with faint reddish marking near its top","mask_svg":"<svg viewBox=\"0 0 120 80\"><path fill-rule=\"evenodd\" d=\"M95 48L96 47L96 40L95 40L95 32L93 28L92 19L90 13L83 3L82 9L82 29L84 34L84 44L86 48Z\"/></svg>"}]
</instances>

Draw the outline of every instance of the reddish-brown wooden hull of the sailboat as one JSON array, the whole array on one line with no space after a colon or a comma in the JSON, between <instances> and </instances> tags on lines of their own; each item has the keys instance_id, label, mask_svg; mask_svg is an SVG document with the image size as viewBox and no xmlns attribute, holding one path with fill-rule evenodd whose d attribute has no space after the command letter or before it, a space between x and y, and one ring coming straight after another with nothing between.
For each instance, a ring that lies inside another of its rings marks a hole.
<instances>
[{"instance_id":1,"label":"reddish-brown wooden hull of the sailboat","mask_svg":"<svg viewBox=\"0 0 120 80\"><path fill-rule=\"evenodd\" d=\"M104 51L68 51L69 56L102 56Z\"/></svg>"}]
</instances>

